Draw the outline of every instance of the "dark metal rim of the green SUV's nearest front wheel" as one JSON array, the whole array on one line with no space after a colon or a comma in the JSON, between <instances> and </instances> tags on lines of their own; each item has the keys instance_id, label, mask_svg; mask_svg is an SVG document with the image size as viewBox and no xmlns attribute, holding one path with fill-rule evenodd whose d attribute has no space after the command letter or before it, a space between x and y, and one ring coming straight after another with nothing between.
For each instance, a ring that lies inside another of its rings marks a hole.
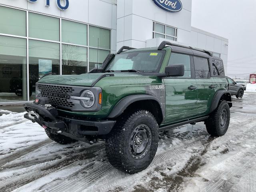
<instances>
[{"instance_id":1,"label":"dark metal rim of the green SUV's nearest front wheel","mask_svg":"<svg viewBox=\"0 0 256 192\"><path fill-rule=\"evenodd\" d=\"M151 131L147 125L137 126L130 137L130 152L136 159L143 158L151 146Z\"/></svg>"}]
</instances>

